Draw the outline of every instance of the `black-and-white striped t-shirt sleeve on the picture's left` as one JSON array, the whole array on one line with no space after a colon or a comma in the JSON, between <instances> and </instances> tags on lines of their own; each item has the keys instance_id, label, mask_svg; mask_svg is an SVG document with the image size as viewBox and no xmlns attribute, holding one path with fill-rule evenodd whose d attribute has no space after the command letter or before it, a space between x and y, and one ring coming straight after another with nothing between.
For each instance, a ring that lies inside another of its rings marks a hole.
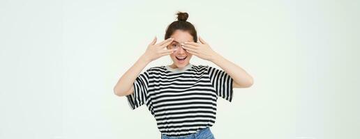
<instances>
[{"instance_id":1,"label":"black-and-white striped t-shirt sleeve on the picture's left","mask_svg":"<svg viewBox=\"0 0 360 139\"><path fill-rule=\"evenodd\" d=\"M149 70L138 75L134 83L134 92L127 95L128 104L131 109L142 106L149 101L148 86L149 86Z\"/></svg>"}]
</instances>

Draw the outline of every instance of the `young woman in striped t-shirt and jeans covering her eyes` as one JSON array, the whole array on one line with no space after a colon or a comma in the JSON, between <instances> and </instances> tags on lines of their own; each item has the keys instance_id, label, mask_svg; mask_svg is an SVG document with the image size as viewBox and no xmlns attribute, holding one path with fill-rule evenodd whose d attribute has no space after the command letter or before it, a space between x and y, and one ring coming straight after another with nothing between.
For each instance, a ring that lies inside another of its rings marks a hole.
<instances>
[{"instance_id":1,"label":"young woman in striped t-shirt and jeans covering her eyes","mask_svg":"<svg viewBox=\"0 0 360 139\"><path fill-rule=\"evenodd\" d=\"M145 53L121 76L114 93L126 96L130 108L146 104L155 117L161 138L214 138L209 127L215 123L216 101L232 101L233 88L248 88L253 77L220 56L199 37L188 13L177 13L178 21L167 26L165 40L156 38ZM151 61L170 55L172 65L151 67ZM221 67L192 65L195 55Z\"/></svg>"}]
</instances>

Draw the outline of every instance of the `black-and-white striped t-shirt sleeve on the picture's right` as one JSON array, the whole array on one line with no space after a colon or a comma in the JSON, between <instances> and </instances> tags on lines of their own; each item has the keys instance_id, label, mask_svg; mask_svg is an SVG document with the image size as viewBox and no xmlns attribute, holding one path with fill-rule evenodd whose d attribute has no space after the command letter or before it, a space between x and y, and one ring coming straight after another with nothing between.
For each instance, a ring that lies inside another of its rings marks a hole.
<instances>
[{"instance_id":1,"label":"black-and-white striped t-shirt sleeve on the picture's right","mask_svg":"<svg viewBox=\"0 0 360 139\"><path fill-rule=\"evenodd\" d=\"M216 90L216 95L231 102L233 97L233 79L231 76L225 71L211 66L208 67L207 72L213 88Z\"/></svg>"}]
</instances>

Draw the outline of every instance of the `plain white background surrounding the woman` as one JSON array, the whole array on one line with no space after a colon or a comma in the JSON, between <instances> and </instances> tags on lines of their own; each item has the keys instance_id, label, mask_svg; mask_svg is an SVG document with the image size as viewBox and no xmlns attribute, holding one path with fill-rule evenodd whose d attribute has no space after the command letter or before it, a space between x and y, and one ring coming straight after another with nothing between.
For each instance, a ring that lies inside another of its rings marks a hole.
<instances>
[{"instance_id":1,"label":"plain white background surrounding the woman","mask_svg":"<svg viewBox=\"0 0 360 139\"><path fill-rule=\"evenodd\" d=\"M160 138L112 89L179 11L255 79L216 138L360 138L359 1L0 1L0 138ZM148 67L168 65L168 56ZM195 56L191 63L213 65Z\"/></svg>"}]
</instances>

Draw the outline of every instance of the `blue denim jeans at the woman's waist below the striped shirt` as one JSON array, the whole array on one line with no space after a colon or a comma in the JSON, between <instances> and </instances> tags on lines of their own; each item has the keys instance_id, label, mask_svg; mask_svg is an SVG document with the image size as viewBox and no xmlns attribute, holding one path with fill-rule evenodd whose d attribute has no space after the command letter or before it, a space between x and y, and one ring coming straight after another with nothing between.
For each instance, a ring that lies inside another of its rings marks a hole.
<instances>
[{"instance_id":1,"label":"blue denim jeans at the woman's waist below the striped shirt","mask_svg":"<svg viewBox=\"0 0 360 139\"><path fill-rule=\"evenodd\" d=\"M213 133L211 133L209 126L205 129L201 129L196 133L192 133L188 136L181 136L181 137L170 137L166 136L165 134L161 133L161 139L215 139Z\"/></svg>"}]
</instances>

